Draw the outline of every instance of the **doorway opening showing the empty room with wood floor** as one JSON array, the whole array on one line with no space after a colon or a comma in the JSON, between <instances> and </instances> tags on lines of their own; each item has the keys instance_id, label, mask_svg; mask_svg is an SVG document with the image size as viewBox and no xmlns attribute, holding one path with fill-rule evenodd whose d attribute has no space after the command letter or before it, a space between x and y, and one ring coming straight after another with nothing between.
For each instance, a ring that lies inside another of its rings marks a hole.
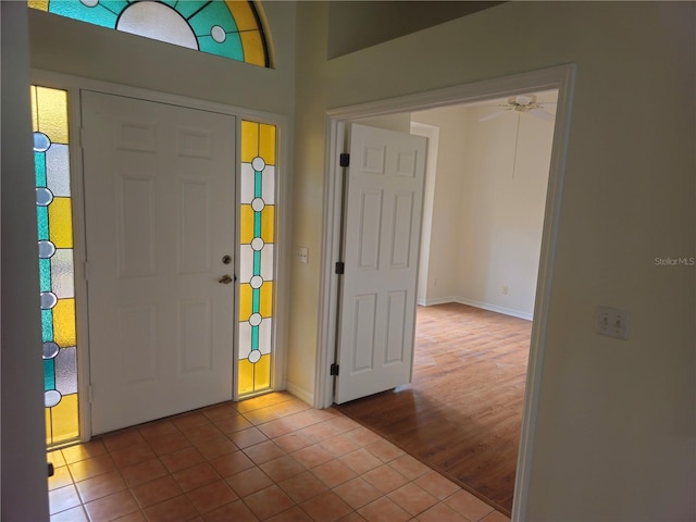
<instances>
[{"instance_id":1,"label":"doorway opening showing the empty room with wood floor","mask_svg":"<svg viewBox=\"0 0 696 522\"><path fill-rule=\"evenodd\" d=\"M527 104L513 110L509 99ZM424 190L412 380L339 406L507 513L556 100L548 91L407 114L437 151Z\"/></svg>"}]
</instances>

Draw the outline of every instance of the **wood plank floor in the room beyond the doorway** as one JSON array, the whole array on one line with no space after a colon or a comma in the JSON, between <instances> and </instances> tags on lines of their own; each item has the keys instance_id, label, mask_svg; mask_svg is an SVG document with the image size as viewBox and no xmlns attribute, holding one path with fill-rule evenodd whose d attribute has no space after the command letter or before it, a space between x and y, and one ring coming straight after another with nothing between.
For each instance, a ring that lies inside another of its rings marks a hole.
<instances>
[{"instance_id":1,"label":"wood plank floor in the room beyond the doorway","mask_svg":"<svg viewBox=\"0 0 696 522\"><path fill-rule=\"evenodd\" d=\"M419 307L413 382L338 407L510 514L532 322Z\"/></svg>"}]
</instances>

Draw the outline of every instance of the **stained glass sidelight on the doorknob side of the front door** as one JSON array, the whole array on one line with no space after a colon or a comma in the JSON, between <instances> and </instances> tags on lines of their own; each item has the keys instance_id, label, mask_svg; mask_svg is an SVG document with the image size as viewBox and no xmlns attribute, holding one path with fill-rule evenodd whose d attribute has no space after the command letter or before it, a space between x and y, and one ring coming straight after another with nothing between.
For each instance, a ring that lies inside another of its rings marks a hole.
<instances>
[{"instance_id":1,"label":"stained glass sidelight on the doorknob side of the front door","mask_svg":"<svg viewBox=\"0 0 696 522\"><path fill-rule=\"evenodd\" d=\"M240 397L271 387L276 128L241 122L239 225Z\"/></svg>"}]
</instances>

